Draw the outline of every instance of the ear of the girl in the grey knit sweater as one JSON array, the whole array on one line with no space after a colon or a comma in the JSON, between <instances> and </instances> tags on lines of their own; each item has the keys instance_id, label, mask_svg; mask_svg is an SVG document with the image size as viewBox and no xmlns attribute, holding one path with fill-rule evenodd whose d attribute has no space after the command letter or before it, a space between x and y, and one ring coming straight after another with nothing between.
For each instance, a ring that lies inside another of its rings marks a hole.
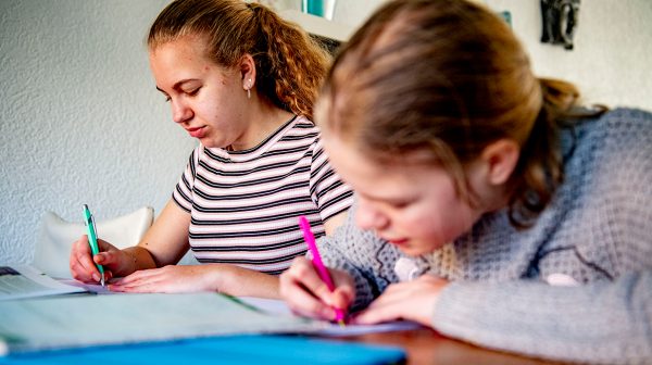
<instances>
[{"instance_id":1,"label":"ear of the girl in the grey knit sweater","mask_svg":"<svg viewBox=\"0 0 652 365\"><path fill-rule=\"evenodd\" d=\"M511 139L499 139L487 146L480 154L480 161L487 167L487 181L494 186L507 181L516 168L519 155L518 143Z\"/></svg>"}]
</instances>

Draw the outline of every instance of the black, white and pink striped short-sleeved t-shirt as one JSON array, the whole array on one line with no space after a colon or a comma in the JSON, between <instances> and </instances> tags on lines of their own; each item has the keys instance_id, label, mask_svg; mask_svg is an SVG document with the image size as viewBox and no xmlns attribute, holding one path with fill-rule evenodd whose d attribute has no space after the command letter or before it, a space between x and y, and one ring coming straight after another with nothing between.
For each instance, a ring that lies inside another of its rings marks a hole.
<instances>
[{"instance_id":1,"label":"black, white and pink striped short-sleeved t-shirt","mask_svg":"<svg viewBox=\"0 0 652 365\"><path fill-rule=\"evenodd\" d=\"M173 199L191 214L199 262L279 274L306 251L298 217L324 236L324 221L348 210L352 192L330 167L318 128L294 116L249 150L200 144Z\"/></svg>"}]
</instances>

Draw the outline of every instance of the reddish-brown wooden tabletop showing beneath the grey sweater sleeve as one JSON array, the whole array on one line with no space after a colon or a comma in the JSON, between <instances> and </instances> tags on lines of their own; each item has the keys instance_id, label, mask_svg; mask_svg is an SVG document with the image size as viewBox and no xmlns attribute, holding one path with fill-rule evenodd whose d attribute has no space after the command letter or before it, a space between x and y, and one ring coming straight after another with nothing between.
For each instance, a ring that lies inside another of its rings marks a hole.
<instances>
[{"instance_id":1,"label":"reddish-brown wooden tabletop showing beneath the grey sweater sleeve","mask_svg":"<svg viewBox=\"0 0 652 365\"><path fill-rule=\"evenodd\" d=\"M540 365L559 364L516 354L492 351L443 337L427 328L376 332L341 338L343 341L358 341L375 344L398 345L405 349L409 365Z\"/></svg>"}]
</instances>

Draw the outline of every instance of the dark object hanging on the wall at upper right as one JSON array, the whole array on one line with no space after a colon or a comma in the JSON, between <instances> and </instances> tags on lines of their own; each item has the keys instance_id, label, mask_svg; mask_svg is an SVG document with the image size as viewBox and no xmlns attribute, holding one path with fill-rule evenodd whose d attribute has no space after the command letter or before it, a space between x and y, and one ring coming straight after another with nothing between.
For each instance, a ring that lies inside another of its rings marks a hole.
<instances>
[{"instance_id":1,"label":"dark object hanging on the wall at upper right","mask_svg":"<svg viewBox=\"0 0 652 365\"><path fill-rule=\"evenodd\" d=\"M541 0L541 42L563 45L565 49L572 50L578 15L579 0Z\"/></svg>"}]
</instances>

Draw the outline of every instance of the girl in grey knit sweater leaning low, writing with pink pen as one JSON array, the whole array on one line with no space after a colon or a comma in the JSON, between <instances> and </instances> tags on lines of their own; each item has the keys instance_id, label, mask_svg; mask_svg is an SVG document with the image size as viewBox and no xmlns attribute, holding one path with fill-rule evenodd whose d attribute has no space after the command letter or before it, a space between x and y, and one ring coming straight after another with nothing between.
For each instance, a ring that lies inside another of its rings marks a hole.
<instances>
[{"instance_id":1,"label":"girl in grey knit sweater leaning low, writing with pink pen","mask_svg":"<svg viewBox=\"0 0 652 365\"><path fill-rule=\"evenodd\" d=\"M316 106L356 196L319 246L336 289L298 257L284 299L528 355L652 361L652 114L577 99L481 5L388 2Z\"/></svg>"}]
</instances>

